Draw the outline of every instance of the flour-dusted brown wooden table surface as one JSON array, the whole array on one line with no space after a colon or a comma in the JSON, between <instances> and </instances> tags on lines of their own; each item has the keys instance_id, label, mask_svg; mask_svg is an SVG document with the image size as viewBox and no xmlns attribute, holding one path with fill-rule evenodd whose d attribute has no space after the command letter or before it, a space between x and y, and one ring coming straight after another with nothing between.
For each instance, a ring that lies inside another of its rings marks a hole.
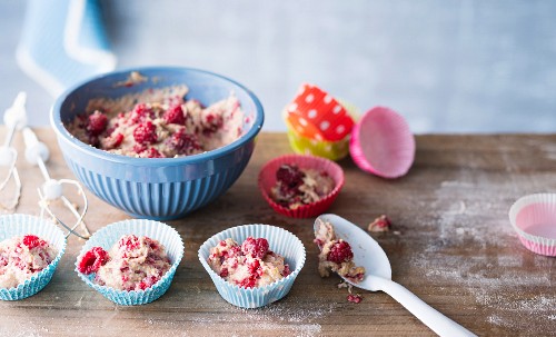
<instances>
[{"instance_id":1,"label":"flour-dusted brown wooden table surface","mask_svg":"<svg viewBox=\"0 0 556 337\"><path fill-rule=\"evenodd\" d=\"M0 135L4 135L1 129ZM51 149L53 178L73 177L50 129L39 139ZM17 212L38 215L37 167L23 159ZM166 295L152 304L116 306L73 271L83 244L71 237L51 283L39 294L0 303L2 336L429 336L434 335L384 293L359 291L346 300L337 276L317 272L314 219L274 212L257 186L260 167L291 152L284 133L262 133L249 166L218 200L170 221L186 255ZM556 135L418 136L415 163L398 180L385 180L340 161L346 185L329 209L366 228L381 214L393 231L373 235L388 255L393 279L480 336L556 334L556 258L535 255L515 236L508 209L519 197L556 190ZM92 230L129 218L89 194L86 220ZM270 224L297 235L307 262L289 295L261 309L226 303L197 258L211 235L241 224Z\"/></svg>"}]
</instances>

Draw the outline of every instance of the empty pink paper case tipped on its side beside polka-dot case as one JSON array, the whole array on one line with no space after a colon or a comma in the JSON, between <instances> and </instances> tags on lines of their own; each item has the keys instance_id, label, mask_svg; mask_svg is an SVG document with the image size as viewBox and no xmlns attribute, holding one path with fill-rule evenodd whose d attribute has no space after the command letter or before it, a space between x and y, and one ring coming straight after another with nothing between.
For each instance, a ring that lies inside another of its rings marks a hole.
<instances>
[{"instance_id":1,"label":"empty pink paper case tipped on its side beside polka-dot case","mask_svg":"<svg viewBox=\"0 0 556 337\"><path fill-rule=\"evenodd\" d=\"M383 178L398 178L414 162L415 138L404 117L376 107L354 127L349 152L360 169Z\"/></svg>"}]
</instances>

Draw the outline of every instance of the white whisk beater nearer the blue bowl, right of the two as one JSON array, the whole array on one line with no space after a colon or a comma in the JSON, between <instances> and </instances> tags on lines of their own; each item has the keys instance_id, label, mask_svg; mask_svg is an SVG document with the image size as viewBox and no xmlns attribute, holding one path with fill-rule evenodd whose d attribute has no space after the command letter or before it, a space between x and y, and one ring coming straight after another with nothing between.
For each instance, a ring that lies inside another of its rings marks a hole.
<instances>
[{"instance_id":1,"label":"white whisk beater nearer the blue bowl, right of the two","mask_svg":"<svg viewBox=\"0 0 556 337\"><path fill-rule=\"evenodd\" d=\"M39 141L37 135L34 135L34 132L30 128L23 129L23 140L26 142L27 161L32 165L37 165L42 174L42 177L44 178L44 184L42 184L42 186L37 189L39 192L41 217L43 217L44 214L48 214L50 217L56 219L58 224L68 229L68 234L66 235L66 237L68 237L70 234L73 234L82 239L88 239L91 234L89 232L89 229L83 221L83 217L87 214L88 208L87 196L85 195L83 188L78 181L72 179L57 180L50 178L47 166L44 165L50 158L50 151L42 141ZM81 212L79 212L77 209L78 207L70 202L70 200L63 195L64 186L70 186L77 189L78 196L82 198L83 202ZM62 221L56 214L56 211L51 209L51 204L56 201L61 202L63 207L67 208L76 218L76 221L71 226ZM83 234L79 234L76 231L76 228L78 226L81 226Z\"/></svg>"}]
</instances>

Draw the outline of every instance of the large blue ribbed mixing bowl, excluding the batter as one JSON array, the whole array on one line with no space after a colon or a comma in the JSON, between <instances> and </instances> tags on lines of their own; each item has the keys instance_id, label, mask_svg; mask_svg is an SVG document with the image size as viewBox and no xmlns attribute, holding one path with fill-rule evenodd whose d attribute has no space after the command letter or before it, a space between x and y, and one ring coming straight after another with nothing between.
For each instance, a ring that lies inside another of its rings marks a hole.
<instances>
[{"instance_id":1,"label":"large blue ribbed mixing bowl, excluding the batter","mask_svg":"<svg viewBox=\"0 0 556 337\"><path fill-rule=\"evenodd\" d=\"M148 80L131 87L116 85L125 82L131 71ZM246 115L242 136L200 155L131 158L83 143L63 126L82 113L92 98L118 98L177 85L188 86L186 98L195 98L205 106L234 92ZM251 157L264 118L257 97L238 82L203 70L168 67L129 69L92 78L61 95L50 113L63 158L76 177L106 202L133 217L156 220L183 217L228 190Z\"/></svg>"}]
</instances>

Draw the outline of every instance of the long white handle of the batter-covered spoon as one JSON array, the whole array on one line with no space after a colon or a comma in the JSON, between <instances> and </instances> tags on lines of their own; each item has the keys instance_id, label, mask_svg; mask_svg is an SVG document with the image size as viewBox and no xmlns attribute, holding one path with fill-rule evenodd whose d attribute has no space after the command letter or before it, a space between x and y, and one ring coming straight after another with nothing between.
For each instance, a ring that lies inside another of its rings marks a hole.
<instances>
[{"instance_id":1,"label":"long white handle of the batter-covered spoon","mask_svg":"<svg viewBox=\"0 0 556 337\"><path fill-rule=\"evenodd\" d=\"M463 326L437 311L431 306L427 305L415 294L407 290L404 286L386 278L376 276L374 276L373 278L374 284L377 288L390 295L438 336L476 336L468 329L464 328Z\"/></svg>"}]
</instances>

